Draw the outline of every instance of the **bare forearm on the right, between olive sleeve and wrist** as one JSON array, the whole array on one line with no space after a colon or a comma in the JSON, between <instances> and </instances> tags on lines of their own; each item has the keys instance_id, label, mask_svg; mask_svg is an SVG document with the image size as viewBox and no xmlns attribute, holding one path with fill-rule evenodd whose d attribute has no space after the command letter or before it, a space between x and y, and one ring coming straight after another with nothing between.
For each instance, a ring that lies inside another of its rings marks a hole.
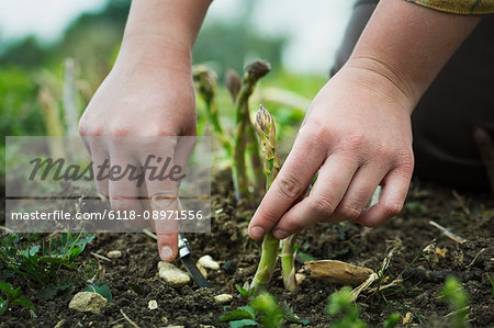
<instances>
[{"instance_id":1,"label":"bare forearm on the right, between olive sleeve and wrist","mask_svg":"<svg viewBox=\"0 0 494 328\"><path fill-rule=\"evenodd\" d=\"M381 0L346 66L371 72L360 83L413 110L480 20Z\"/></svg>"}]
</instances>

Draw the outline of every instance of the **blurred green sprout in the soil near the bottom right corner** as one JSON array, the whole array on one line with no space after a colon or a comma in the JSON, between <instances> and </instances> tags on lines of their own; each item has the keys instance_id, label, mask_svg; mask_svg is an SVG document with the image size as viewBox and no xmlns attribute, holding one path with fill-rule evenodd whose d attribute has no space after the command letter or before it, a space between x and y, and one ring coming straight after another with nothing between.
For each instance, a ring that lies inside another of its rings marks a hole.
<instances>
[{"instance_id":1,"label":"blurred green sprout in the soil near the bottom right corner","mask_svg":"<svg viewBox=\"0 0 494 328\"><path fill-rule=\"evenodd\" d=\"M441 291L441 297L448 301L453 312L448 315L454 328L467 327L467 315L469 313L468 296L461 283L454 276L446 279Z\"/></svg>"}]
</instances>

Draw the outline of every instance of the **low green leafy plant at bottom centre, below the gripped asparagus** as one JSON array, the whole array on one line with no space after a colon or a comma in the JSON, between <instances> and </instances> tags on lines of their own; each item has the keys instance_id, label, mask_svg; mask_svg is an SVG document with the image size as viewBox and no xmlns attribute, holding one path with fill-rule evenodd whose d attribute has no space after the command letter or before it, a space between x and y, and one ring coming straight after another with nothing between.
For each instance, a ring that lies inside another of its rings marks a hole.
<instances>
[{"instance_id":1,"label":"low green leafy plant at bottom centre, below the gripped asparagus","mask_svg":"<svg viewBox=\"0 0 494 328\"><path fill-rule=\"evenodd\" d=\"M308 320L299 318L290 306L279 304L268 292L262 292L254 297L247 306L223 314L217 321L229 323L231 327L261 325L268 328L280 327L283 323L308 324Z\"/></svg>"}]
</instances>

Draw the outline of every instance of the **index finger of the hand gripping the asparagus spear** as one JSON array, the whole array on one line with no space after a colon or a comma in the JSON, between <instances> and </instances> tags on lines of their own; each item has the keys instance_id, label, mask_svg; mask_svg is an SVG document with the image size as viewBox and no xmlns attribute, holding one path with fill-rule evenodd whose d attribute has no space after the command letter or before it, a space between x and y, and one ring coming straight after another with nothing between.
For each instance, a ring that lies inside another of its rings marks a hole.
<instances>
[{"instance_id":1,"label":"index finger of the hand gripping the asparagus spear","mask_svg":"<svg viewBox=\"0 0 494 328\"><path fill-rule=\"evenodd\" d=\"M249 236L260 239L307 189L327 154L313 136L300 134L278 177L249 224Z\"/></svg>"}]
</instances>

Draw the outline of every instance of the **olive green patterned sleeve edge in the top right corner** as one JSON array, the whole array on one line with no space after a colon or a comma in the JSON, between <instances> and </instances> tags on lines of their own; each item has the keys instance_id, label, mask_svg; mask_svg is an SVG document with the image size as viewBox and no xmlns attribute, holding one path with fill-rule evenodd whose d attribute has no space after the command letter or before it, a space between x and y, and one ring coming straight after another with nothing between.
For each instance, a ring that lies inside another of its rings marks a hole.
<instances>
[{"instance_id":1,"label":"olive green patterned sleeve edge in the top right corner","mask_svg":"<svg viewBox=\"0 0 494 328\"><path fill-rule=\"evenodd\" d=\"M494 0L406 0L406 1L456 14L494 13Z\"/></svg>"}]
</instances>

